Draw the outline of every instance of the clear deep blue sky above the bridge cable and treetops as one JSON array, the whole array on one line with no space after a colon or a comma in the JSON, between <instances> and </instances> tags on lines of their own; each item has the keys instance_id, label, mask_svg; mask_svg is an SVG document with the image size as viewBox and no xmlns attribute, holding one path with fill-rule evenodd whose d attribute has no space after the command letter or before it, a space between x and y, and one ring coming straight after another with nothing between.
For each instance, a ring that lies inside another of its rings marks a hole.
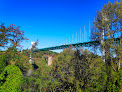
<instances>
[{"instance_id":1,"label":"clear deep blue sky above the bridge cable and treetops","mask_svg":"<svg viewBox=\"0 0 122 92\"><path fill-rule=\"evenodd\" d=\"M109 0L114 2L114 0ZM0 22L20 26L29 39L22 45L50 47L79 30L93 19L108 0L0 0Z\"/></svg>"}]
</instances>

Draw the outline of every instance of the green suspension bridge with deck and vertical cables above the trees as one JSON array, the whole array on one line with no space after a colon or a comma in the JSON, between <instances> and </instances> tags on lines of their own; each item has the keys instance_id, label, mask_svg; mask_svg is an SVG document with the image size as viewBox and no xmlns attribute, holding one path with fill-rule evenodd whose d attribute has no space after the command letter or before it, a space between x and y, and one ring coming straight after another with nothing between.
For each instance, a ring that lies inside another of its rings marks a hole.
<instances>
[{"instance_id":1,"label":"green suspension bridge with deck and vertical cables above the trees","mask_svg":"<svg viewBox=\"0 0 122 92\"><path fill-rule=\"evenodd\" d=\"M79 30L75 31L74 34L66 38L65 40L59 42L58 44L55 44L54 46L47 47L47 48L41 48L40 51L49 51L49 50L58 50L58 49L65 49L69 47L90 47L90 46L98 46L100 45L100 41L98 40L90 40L90 36L93 30L93 22L95 22L95 18L90 20L88 23L86 23L83 27L81 27ZM120 27L120 26L119 26ZM121 33L115 34L115 40L119 40L119 36ZM104 39L107 40L107 39ZM35 50L35 52L38 50Z\"/></svg>"}]
</instances>

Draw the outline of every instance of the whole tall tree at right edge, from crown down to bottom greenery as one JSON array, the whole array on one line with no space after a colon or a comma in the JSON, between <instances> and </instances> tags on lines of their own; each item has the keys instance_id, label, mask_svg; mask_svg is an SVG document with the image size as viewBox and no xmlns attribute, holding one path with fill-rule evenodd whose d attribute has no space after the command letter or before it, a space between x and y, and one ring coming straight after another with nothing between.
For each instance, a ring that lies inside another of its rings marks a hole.
<instances>
[{"instance_id":1,"label":"whole tall tree at right edge, from crown down to bottom greenery","mask_svg":"<svg viewBox=\"0 0 122 92\"><path fill-rule=\"evenodd\" d=\"M122 58L121 4L122 2L109 2L104 5L102 10L98 11L91 36L93 40L98 40L101 43L102 59L105 60L107 74L105 91L110 92L119 92L122 86L120 83L122 79L120 74L120 60Z\"/></svg>"}]
</instances>

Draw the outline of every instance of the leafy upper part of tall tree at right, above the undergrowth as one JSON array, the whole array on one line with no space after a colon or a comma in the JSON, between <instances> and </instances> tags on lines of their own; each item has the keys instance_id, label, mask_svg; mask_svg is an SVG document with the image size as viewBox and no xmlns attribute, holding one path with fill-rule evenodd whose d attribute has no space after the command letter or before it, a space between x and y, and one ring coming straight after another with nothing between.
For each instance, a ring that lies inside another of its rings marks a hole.
<instances>
[{"instance_id":1,"label":"leafy upper part of tall tree at right, above the undergrowth","mask_svg":"<svg viewBox=\"0 0 122 92\"><path fill-rule=\"evenodd\" d=\"M94 22L94 30L91 39L98 40L101 43L102 59L111 66L111 58L117 55L117 46L121 47L122 39L122 10L121 2L115 2L104 5L104 8L98 11ZM119 37L119 44L115 38ZM105 40L107 39L107 40ZM111 51L114 49L115 53ZM119 57L120 58L120 57ZM119 63L118 61L117 63ZM119 66L120 67L120 64Z\"/></svg>"}]
</instances>

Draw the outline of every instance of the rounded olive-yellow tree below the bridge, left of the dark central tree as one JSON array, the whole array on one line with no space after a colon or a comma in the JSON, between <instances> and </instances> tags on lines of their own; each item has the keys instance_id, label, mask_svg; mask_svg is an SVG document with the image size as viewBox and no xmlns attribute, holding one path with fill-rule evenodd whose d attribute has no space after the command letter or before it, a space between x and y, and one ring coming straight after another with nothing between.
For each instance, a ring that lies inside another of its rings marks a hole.
<instances>
[{"instance_id":1,"label":"rounded olive-yellow tree below the bridge, left of the dark central tree","mask_svg":"<svg viewBox=\"0 0 122 92\"><path fill-rule=\"evenodd\" d=\"M72 57L73 52L67 50L56 57L52 75L57 81L54 81L54 83L51 84L53 85L53 90L66 91L74 85L74 71L71 63ZM56 85L57 83L58 85Z\"/></svg>"}]
</instances>

